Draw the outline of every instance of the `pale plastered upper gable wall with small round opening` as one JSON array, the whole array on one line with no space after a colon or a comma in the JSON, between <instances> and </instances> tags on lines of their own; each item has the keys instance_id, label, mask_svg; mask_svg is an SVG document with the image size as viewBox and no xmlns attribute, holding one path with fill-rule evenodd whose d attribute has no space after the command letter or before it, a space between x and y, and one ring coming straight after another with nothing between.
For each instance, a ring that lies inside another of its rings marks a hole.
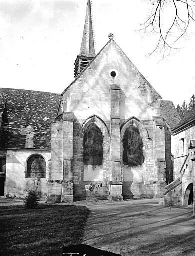
<instances>
[{"instance_id":1,"label":"pale plastered upper gable wall with small round opening","mask_svg":"<svg viewBox=\"0 0 195 256\"><path fill-rule=\"evenodd\" d=\"M112 78L110 72L116 71ZM160 115L159 95L146 79L111 41L63 95L65 112L74 112L78 119L96 114L110 119L110 85L120 86L120 118L136 116L152 120Z\"/></svg>"}]
</instances>

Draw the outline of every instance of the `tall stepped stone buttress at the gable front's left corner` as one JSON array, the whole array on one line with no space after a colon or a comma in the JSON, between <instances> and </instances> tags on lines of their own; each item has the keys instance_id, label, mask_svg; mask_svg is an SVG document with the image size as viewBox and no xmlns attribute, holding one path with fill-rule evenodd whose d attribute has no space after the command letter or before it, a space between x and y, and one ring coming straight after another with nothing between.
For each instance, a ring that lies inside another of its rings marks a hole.
<instances>
[{"instance_id":1,"label":"tall stepped stone buttress at the gable front's left corner","mask_svg":"<svg viewBox=\"0 0 195 256\"><path fill-rule=\"evenodd\" d=\"M62 113L51 125L51 169L48 202L72 202L73 113Z\"/></svg>"}]
</instances>

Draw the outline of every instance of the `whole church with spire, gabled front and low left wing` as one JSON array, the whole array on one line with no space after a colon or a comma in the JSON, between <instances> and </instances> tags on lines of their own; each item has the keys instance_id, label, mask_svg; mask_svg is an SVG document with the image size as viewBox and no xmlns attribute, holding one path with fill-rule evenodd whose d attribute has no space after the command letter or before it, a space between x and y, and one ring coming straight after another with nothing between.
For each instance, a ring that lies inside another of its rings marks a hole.
<instances>
[{"instance_id":1,"label":"whole church with spire, gabled front and low left wing","mask_svg":"<svg viewBox=\"0 0 195 256\"><path fill-rule=\"evenodd\" d=\"M47 202L163 197L179 121L109 34L95 53L88 0L74 80L62 92L0 89L0 195Z\"/></svg>"}]
</instances>

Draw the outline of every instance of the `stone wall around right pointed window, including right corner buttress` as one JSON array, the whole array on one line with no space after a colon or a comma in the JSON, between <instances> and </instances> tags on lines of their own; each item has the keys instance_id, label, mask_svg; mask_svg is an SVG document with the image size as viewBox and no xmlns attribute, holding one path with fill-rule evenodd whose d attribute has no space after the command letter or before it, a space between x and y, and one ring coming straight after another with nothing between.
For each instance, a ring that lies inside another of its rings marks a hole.
<instances>
[{"instance_id":1,"label":"stone wall around right pointed window, including right corner buttress","mask_svg":"<svg viewBox=\"0 0 195 256\"><path fill-rule=\"evenodd\" d=\"M163 126L156 126L153 121L143 120L142 126L136 121L129 125L138 127L143 140L144 163L141 166L123 164L123 144L121 133L121 175L123 180L123 197L161 197L165 187L165 134ZM162 123L163 124L163 123ZM127 124L126 124L127 127ZM125 128L126 128L125 127Z\"/></svg>"}]
</instances>

